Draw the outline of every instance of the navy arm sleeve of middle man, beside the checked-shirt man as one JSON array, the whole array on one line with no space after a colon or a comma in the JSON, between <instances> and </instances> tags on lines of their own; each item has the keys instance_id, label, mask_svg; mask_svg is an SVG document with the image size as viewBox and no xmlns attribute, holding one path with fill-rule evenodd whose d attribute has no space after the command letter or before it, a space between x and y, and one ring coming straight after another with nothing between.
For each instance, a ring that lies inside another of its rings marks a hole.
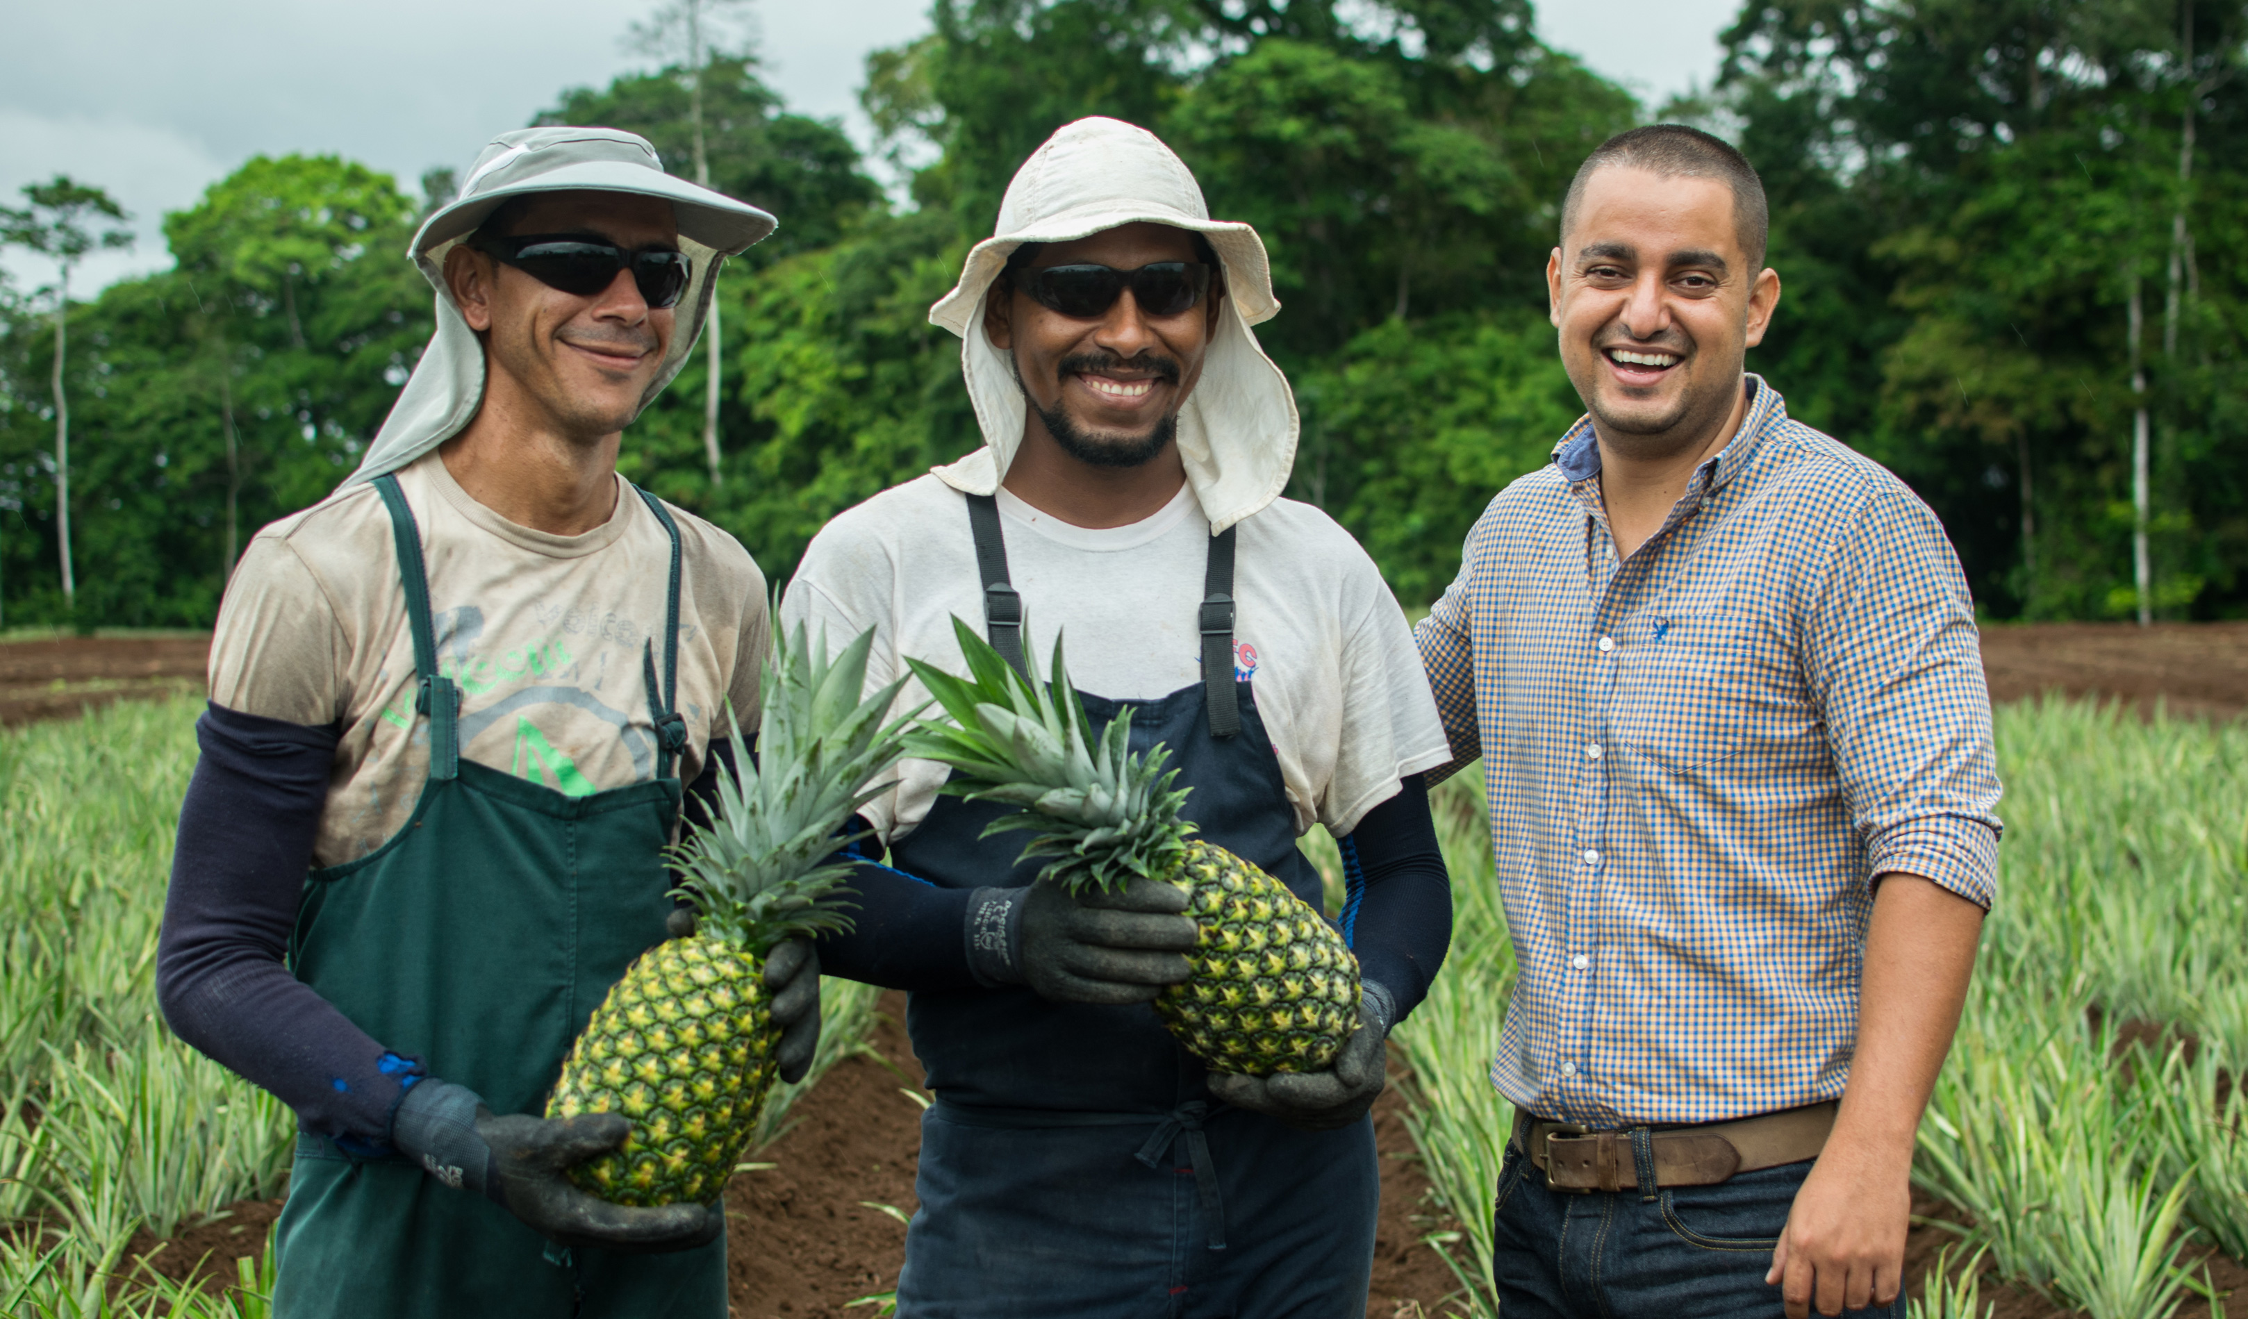
<instances>
[{"instance_id":1,"label":"navy arm sleeve of middle man, beside the checked-shirt man","mask_svg":"<svg viewBox=\"0 0 2248 1319\"><path fill-rule=\"evenodd\" d=\"M1358 953L1360 975L1387 989L1396 1020L1405 1020L1427 998L1452 944L1452 879L1427 813L1427 780L1409 775L1340 845L1342 937Z\"/></svg>"}]
</instances>

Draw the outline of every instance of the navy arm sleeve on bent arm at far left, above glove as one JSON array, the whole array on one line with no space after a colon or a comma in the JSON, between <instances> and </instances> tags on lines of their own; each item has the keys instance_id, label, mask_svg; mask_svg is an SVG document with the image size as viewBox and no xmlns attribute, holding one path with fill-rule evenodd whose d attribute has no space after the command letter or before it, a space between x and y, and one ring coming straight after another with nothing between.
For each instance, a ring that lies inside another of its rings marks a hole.
<instances>
[{"instance_id":1,"label":"navy arm sleeve on bent arm at far left, above glove","mask_svg":"<svg viewBox=\"0 0 2248 1319\"><path fill-rule=\"evenodd\" d=\"M173 1034L274 1092L306 1130L387 1141L420 1067L283 962L335 739L335 728L223 706L196 721L202 759L180 807L155 993Z\"/></svg>"}]
</instances>

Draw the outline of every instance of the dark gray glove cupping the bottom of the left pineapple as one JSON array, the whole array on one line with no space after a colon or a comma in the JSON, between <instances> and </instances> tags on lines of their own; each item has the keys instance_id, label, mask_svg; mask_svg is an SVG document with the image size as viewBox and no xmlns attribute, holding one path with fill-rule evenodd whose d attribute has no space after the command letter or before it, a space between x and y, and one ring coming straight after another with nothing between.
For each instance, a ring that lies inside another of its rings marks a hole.
<instances>
[{"instance_id":1,"label":"dark gray glove cupping the bottom of the left pineapple","mask_svg":"<svg viewBox=\"0 0 2248 1319\"><path fill-rule=\"evenodd\" d=\"M474 1090L434 1076L407 1090L391 1121L391 1144L432 1177L492 1200L558 1245L663 1254L717 1240L726 1229L722 1207L627 1209L562 1175L629 1135L632 1121L620 1112L492 1117Z\"/></svg>"}]
</instances>

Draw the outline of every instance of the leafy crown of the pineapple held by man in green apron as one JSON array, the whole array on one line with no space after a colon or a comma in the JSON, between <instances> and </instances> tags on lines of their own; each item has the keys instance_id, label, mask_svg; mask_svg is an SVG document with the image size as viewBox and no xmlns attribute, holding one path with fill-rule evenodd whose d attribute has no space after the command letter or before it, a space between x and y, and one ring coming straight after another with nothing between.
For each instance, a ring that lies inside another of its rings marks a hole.
<instances>
[{"instance_id":1,"label":"leafy crown of the pineapple held by man in green apron","mask_svg":"<svg viewBox=\"0 0 2248 1319\"><path fill-rule=\"evenodd\" d=\"M672 897L697 908L697 930L767 953L789 937L847 930L850 906L834 890L850 863L830 858L861 834L843 834L852 811L892 786L870 782L904 751L904 730L926 710L883 712L906 679L865 694L874 631L827 656L798 625L773 640L764 665L764 726L751 759L728 710L733 768L717 775L717 809L665 861Z\"/></svg>"}]
</instances>

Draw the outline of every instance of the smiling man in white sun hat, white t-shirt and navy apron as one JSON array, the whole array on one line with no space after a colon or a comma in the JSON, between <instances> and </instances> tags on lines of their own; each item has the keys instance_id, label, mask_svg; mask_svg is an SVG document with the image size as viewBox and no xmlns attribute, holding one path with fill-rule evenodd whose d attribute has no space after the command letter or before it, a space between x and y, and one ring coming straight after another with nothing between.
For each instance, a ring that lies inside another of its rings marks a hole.
<instances>
[{"instance_id":1,"label":"smiling man in white sun hat, white t-shirt and navy apron","mask_svg":"<svg viewBox=\"0 0 2248 1319\"><path fill-rule=\"evenodd\" d=\"M906 762L865 811L888 865L861 867L856 933L821 948L913 991L935 1103L904 1319L1367 1310L1367 1108L1450 937L1421 784L1445 742L1374 562L1279 499L1295 400L1250 333L1277 306L1257 234L1212 220L1162 142L1061 128L931 312L962 337L985 447L836 517L789 586L791 622L872 627L883 681L906 656L964 672L953 616L1007 654L1066 631L1093 719L1131 710L1137 748L1171 748L1205 838L1317 903L1297 836L1342 836L1365 968L1329 1072L1205 1074L1146 1007L1187 977L1185 899L1027 888L1021 838L982 836L998 807Z\"/></svg>"}]
</instances>

